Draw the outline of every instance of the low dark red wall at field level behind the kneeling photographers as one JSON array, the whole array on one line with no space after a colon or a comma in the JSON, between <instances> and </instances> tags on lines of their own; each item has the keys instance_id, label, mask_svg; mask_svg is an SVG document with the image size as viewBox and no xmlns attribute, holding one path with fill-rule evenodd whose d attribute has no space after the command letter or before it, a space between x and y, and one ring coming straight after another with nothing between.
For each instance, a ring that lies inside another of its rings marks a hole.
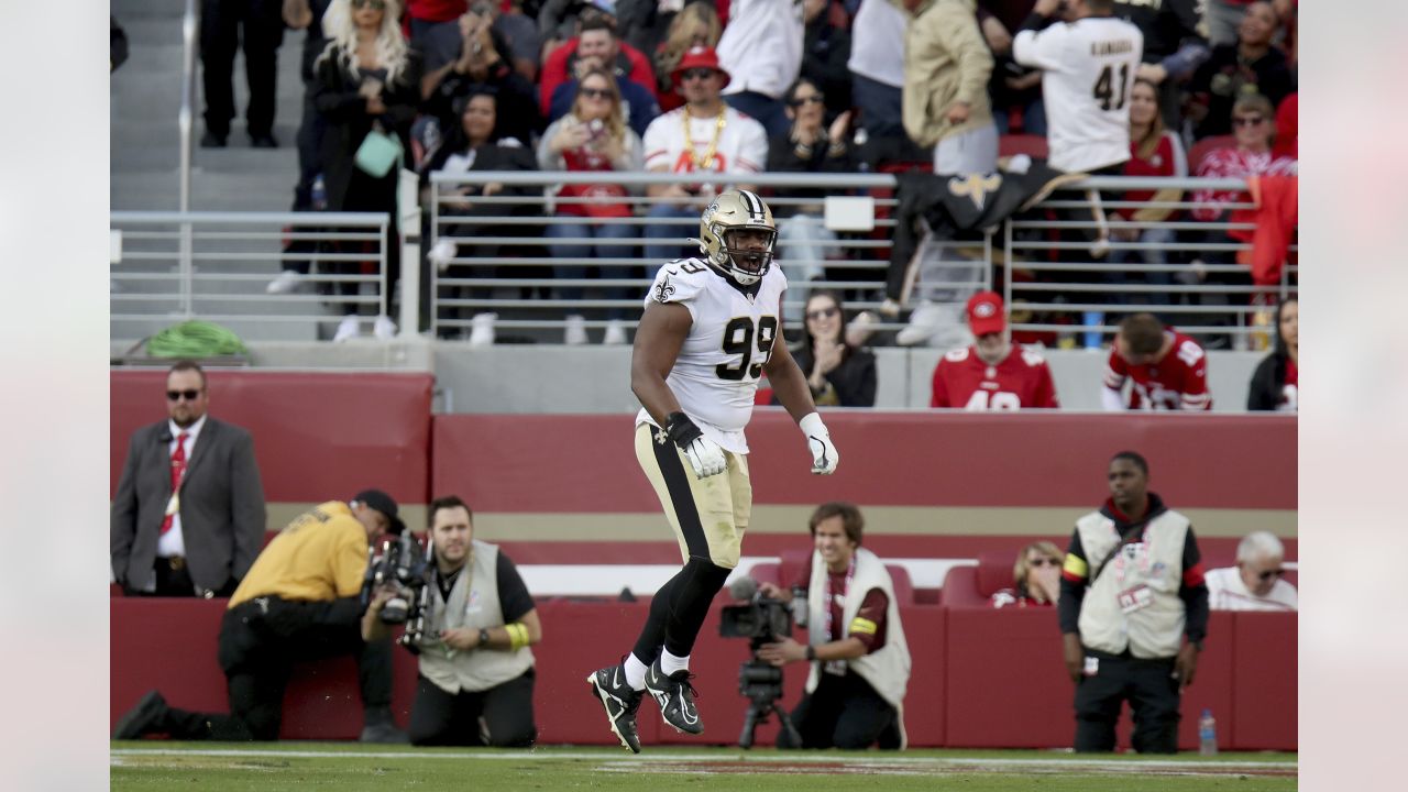
<instances>
[{"instance_id":1,"label":"low dark red wall at field level behind the kneeling photographers","mask_svg":"<svg viewBox=\"0 0 1408 792\"><path fill-rule=\"evenodd\" d=\"M225 682L215 662L215 634L225 600L111 600L111 722L149 689L172 706L225 712ZM586 675L620 657L645 619L648 602L538 605L543 641L534 648L534 696L543 744L614 744ZM1070 745L1071 685L1064 675L1053 610L901 607L914 669L905 727L914 747ZM1297 620L1294 613L1215 613L1194 685L1184 696L1178 743L1197 747L1197 713L1212 707L1225 750L1295 750ZM748 643L718 637L718 609L696 645L693 669L703 692L704 737L665 729L653 705L641 714L645 744L734 744L746 700L738 668ZM404 727L415 688L415 660L396 650L393 709ZM786 669L783 706L801 696L805 668ZM300 667L284 699L282 736L356 738L362 707L351 658ZM770 745L776 722L758 730ZM1121 730L1128 745L1128 720Z\"/></svg>"}]
</instances>

